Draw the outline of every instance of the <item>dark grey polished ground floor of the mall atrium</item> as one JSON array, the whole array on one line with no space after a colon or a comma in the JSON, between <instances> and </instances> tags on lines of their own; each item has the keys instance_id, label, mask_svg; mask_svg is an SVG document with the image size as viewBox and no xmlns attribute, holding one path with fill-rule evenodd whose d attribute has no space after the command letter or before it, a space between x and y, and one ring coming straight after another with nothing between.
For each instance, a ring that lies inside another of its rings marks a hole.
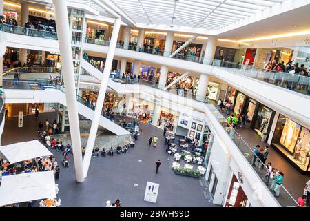
<instances>
[{"instance_id":1,"label":"dark grey polished ground floor of the mall atrium","mask_svg":"<svg viewBox=\"0 0 310 221\"><path fill-rule=\"evenodd\" d=\"M39 118L53 121L55 113L41 113ZM23 128L17 127L17 118L8 119L2 135L2 144L38 139L38 120L24 117ZM72 155L70 167L61 167L58 197L62 206L105 206L107 200L121 200L122 206L217 206L212 204L204 180L175 175L171 169L172 157L165 153L163 131L149 124L141 124L141 135L129 153L94 157L85 182L75 181ZM149 147L149 136L157 136L158 146ZM52 151L61 162L61 153ZM162 164L156 174L155 162ZM147 181L160 184L156 204L143 200ZM135 185L137 184L137 186Z\"/></svg>"}]
</instances>

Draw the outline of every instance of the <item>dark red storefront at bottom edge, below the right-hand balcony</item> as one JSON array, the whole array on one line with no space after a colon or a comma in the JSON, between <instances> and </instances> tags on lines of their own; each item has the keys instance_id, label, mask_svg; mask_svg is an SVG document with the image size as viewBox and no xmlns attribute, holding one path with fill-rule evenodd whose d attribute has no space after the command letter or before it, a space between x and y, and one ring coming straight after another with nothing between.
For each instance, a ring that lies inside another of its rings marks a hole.
<instances>
[{"instance_id":1,"label":"dark red storefront at bottom edge, below the right-hand balcony","mask_svg":"<svg viewBox=\"0 0 310 221\"><path fill-rule=\"evenodd\" d=\"M225 207L247 207L247 201L247 195L245 195L236 175L233 175Z\"/></svg>"}]
</instances>

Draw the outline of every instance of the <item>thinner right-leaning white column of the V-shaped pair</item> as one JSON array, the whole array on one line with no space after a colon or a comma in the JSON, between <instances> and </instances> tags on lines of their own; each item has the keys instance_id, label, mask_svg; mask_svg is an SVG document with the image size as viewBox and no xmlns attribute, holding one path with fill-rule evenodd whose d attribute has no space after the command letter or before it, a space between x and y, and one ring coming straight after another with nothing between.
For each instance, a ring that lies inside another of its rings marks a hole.
<instances>
[{"instance_id":1,"label":"thinner right-leaning white column of the V-shaped pair","mask_svg":"<svg viewBox=\"0 0 310 221\"><path fill-rule=\"evenodd\" d=\"M121 19L117 18L115 19L110 46L109 50L107 51L107 58L105 59L105 69L103 70L103 78L101 79L101 85L96 102L96 108L94 111L94 118L92 119L92 126L90 127L90 135L87 140L87 146L83 162L85 177L87 176L88 168L90 166L90 159L92 158L92 149L94 148L94 142L96 140L96 134L99 126L99 119L101 117L102 106L105 99L105 92L107 90L107 82L109 81L110 77L114 51L116 48L117 37L120 28L121 28Z\"/></svg>"}]
</instances>

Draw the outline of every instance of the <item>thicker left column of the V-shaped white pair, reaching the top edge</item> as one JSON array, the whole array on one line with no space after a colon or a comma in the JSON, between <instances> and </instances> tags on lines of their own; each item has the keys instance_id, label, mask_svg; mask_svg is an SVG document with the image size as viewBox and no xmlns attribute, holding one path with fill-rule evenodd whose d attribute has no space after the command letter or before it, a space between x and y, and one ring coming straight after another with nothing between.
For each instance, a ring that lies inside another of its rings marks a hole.
<instances>
[{"instance_id":1,"label":"thicker left column of the V-shaped white pair, reaching the top edge","mask_svg":"<svg viewBox=\"0 0 310 221\"><path fill-rule=\"evenodd\" d=\"M65 83L65 99L68 107L72 150L74 155L74 169L76 181L83 182L83 159L81 152L81 137L79 115L76 102L75 80L71 49L71 35L68 21L66 1L53 0L59 51L61 55L61 72Z\"/></svg>"}]
</instances>

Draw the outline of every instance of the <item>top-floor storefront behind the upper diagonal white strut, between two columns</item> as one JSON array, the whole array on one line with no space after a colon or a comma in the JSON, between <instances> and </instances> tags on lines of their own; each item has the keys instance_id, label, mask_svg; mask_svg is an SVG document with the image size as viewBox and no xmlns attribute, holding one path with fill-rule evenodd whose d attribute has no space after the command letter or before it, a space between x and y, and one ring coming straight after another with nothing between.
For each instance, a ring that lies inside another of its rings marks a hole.
<instances>
[{"instance_id":1,"label":"top-floor storefront behind the upper diagonal white strut, between two columns","mask_svg":"<svg viewBox=\"0 0 310 221\"><path fill-rule=\"evenodd\" d=\"M174 41L174 44L172 45L172 52L174 52L176 49L180 48L185 42L184 41ZM187 61L198 61L200 54L202 52L203 45L202 44L194 44L191 43L183 50L178 52L176 57L178 59L183 59Z\"/></svg>"}]
</instances>

